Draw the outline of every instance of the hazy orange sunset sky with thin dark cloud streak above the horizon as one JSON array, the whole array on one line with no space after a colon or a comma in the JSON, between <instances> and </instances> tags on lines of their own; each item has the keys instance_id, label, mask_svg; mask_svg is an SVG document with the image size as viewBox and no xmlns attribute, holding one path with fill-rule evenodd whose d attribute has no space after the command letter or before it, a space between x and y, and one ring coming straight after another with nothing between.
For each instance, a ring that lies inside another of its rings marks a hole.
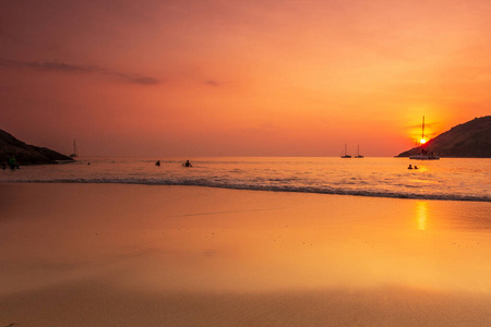
<instances>
[{"instance_id":1,"label":"hazy orange sunset sky with thin dark cloud streak above the horizon","mask_svg":"<svg viewBox=\"0 0 491 327\"><path fill-rule=\"evenodd\" d=\"M0 129L81 156L394 156L491 114L488 0L0 0Z\"/></svg>"}]
</instances>

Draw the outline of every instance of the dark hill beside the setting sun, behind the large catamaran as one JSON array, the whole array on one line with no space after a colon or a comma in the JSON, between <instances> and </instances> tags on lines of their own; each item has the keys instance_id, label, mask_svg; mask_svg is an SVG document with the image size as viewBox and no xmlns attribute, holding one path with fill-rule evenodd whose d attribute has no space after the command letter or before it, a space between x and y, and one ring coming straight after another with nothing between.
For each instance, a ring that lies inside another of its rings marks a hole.
<instances>
[{"instance_id":1,"label":"dark hill beside the setting sun, behind the large catamaran","mask_svg":"<svg viewBox=\"0 0 491 327\"><path fill-rule=\"evenodd\" d=\"M440 157L491 158L491 116L475 118L456 125L423 145L428 152ZM420 153L420 147L399 154L409 157Z\"/></svg>"}]
</instances>

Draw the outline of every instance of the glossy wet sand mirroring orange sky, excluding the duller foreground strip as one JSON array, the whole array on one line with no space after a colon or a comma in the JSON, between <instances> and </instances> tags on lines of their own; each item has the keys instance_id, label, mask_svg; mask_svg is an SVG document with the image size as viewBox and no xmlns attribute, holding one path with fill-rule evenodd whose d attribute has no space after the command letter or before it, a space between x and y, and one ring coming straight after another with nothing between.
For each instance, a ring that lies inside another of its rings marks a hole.
<instances>
[{"instance_id":1,"label":"glossy wet sand mirroring orange sky, excluding the duller foreground strip","mask_svg":"<svg viewBox=\"0 0 491 327\"><path fill-rule=\"evenodd\" d=\"M100 276L157 292L395 286L491 295L489 203L185 186L21 191L31 205L14 204L1 221L5 292Z\"/></svg>"}]
</instances>

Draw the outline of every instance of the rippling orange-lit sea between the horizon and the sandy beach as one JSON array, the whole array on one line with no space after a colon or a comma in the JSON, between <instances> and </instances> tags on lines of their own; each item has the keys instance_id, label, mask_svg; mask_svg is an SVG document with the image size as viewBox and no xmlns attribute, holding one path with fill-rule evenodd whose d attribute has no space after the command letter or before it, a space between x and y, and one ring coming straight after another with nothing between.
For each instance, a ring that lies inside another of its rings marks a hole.
<instances>
[{"instance_id":1,"label":"rippling orange-lit sea between the horizon and the sandy beach","mask_svg":"<svg viewBox=\"0 0 491 327\"><path fill-rule=\"evenodd\" d=\"M0 182L131 183L491 202L491 159L80 158L0 170ZM91 165L87 165L87 164ZM408 170L408 165L418 170Z\"/></svg>"}]
</instances>

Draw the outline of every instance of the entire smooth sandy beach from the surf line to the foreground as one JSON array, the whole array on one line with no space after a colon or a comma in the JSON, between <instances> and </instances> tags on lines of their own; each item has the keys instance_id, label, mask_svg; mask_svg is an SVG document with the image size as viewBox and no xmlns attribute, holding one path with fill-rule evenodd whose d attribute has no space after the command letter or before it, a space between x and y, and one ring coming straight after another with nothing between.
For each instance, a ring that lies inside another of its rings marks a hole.
<instances>
[{"instance_id":1,"label":"entire smooth sandy beach from the surf line to the foreground","mask_svg":"<svg viewBox=\"0 0 491 327\"><path fill-rule=\"evenodd\" d=\"M491 203L0 184L0 327L490 326Z\"/></svg>"}]
</instances>

